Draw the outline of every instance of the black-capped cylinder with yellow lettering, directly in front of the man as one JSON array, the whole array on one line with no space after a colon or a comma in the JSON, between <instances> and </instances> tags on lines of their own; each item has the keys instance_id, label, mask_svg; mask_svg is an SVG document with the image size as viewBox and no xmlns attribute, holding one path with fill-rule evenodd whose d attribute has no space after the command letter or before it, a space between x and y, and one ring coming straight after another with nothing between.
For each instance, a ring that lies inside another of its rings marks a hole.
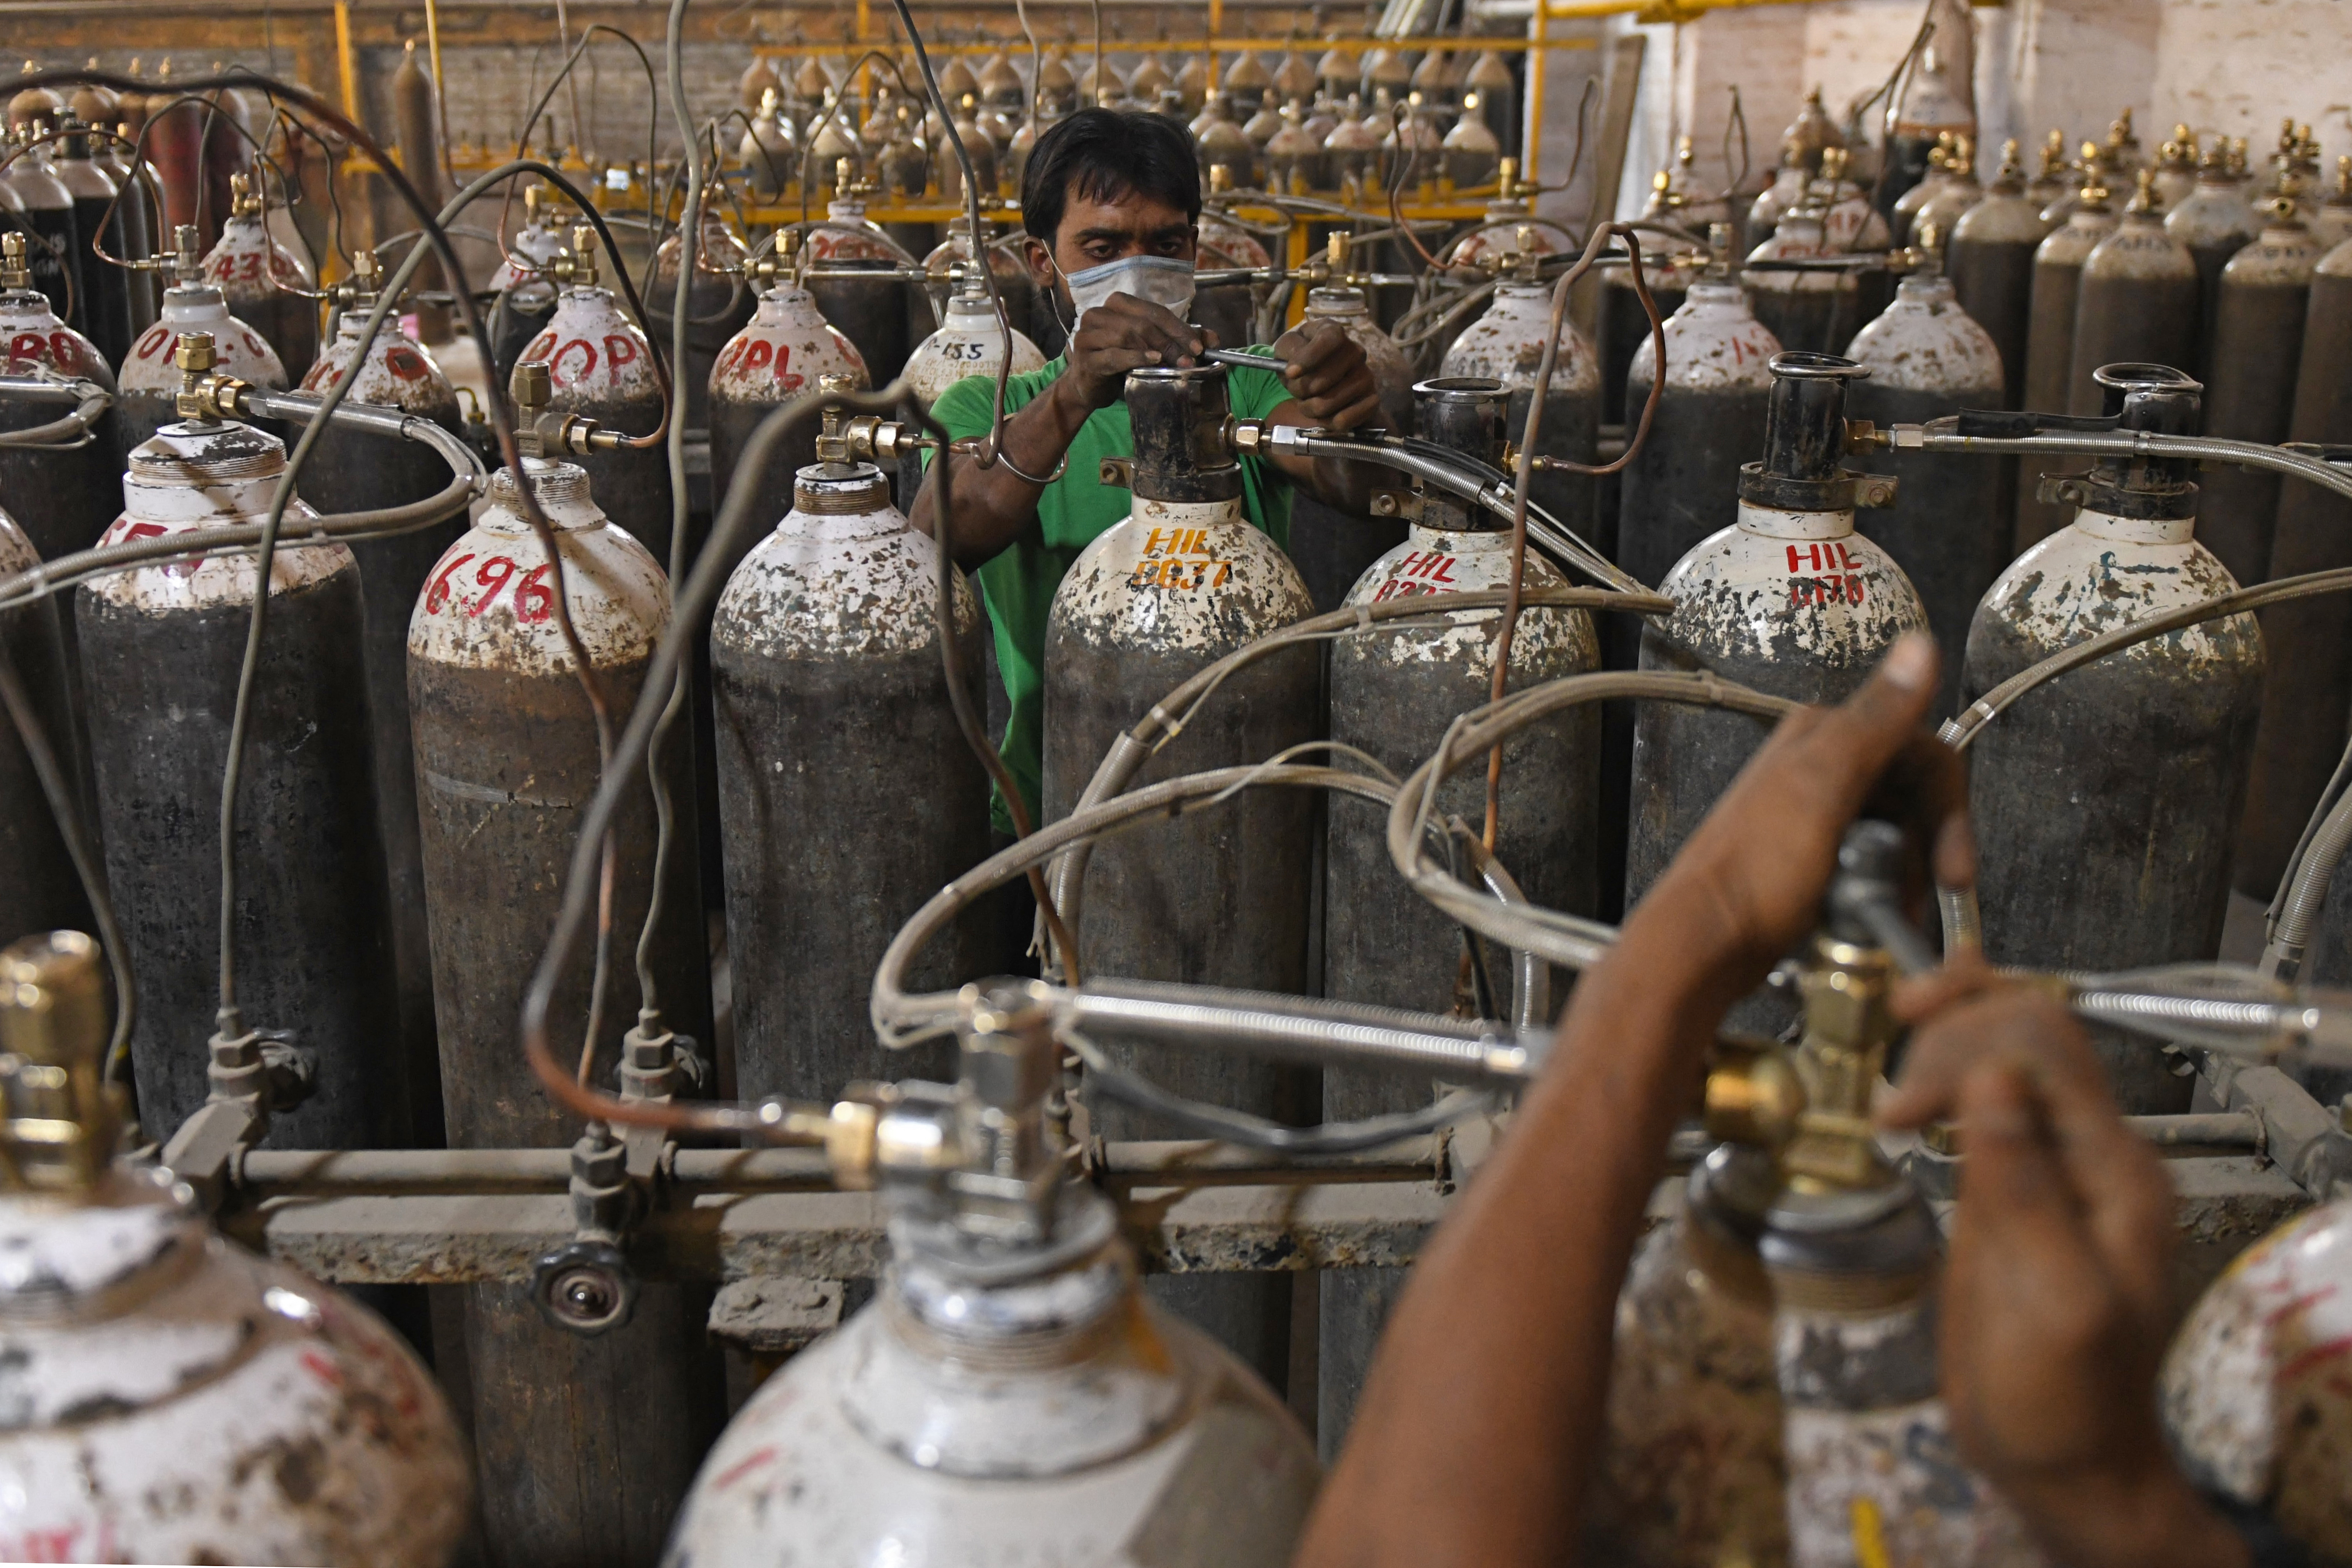
<instances>
[{"instance_id":1,"label":"black-capped cylinder with yellow lettering, directly in front of the man","mask_svg":"<svg viewBox=\"0 0 2352 1568\"><path fill-rule=\"evenodd\" d=\"M1070 816L1110 745L1178 682L1315 609L1296 567L1242 520L1242 468L1221 440L1228 407L1221 364L1127 376L1134 512L1080 552L1047 621L1047 820ZM1131 788L1312 741L1319 684L1312 644L1237 670ZM1305 992L1312 823L1303 792L1249 790L1216 813L1096 846L1077 931L1084 973ZM1296 1074L1272 1063L1103 1044L1183 1095L1310 1112ZM1089 1110L1103 1138L1155 1135L1117 1103ZM1287 1279L1160 1274L1148 1291L1282 1387Z\"/></svg>"}]
</instances>

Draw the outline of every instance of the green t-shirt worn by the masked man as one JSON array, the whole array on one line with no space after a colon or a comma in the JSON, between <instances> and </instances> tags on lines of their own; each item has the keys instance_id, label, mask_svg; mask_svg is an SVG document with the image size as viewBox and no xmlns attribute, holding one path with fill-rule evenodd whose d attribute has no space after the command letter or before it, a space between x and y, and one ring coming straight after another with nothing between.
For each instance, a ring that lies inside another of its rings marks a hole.
<instances>
[{"instance_id":1,"label":"green t-shirt worn by the masked man","mask_svg":"<svg viewBox=\"0 0 2352 1568\"><path fill-rule=\"evenodd\" d=\"M1272 357L1270 348L1249 353ZM1004 416L1042 395L1063 369L1054 360L1044 369L1014 376L1004 386ZM1265 418L1291 400L1282 376L1275 371L1232 369L1225 374L1225 395L1235 418ZM995 400L993 376L969 376L941 393L931 416L950 437L985 437ZM1040 780L1044 773L1044 623L1054 609L1054 590L1061 576L1077 559L1080 550L1108 534L1127 517L1129 494L1105 487L1098 475L1103 458L1134 456L1136 437L1127 423L1127 404L1115 402L1096 409L1070 442L1070 468L1044 487L1037 498L1037 524L990 557L974 581L988 618L997 628L997 670L1004 675L1004 696L1011 701L1011 719L1004 724L1004 766L1021 783L1030 820L1037 820ZM929 454L924 454L929 461ZM953 503L953 496L950 496ZM1242 515L1268 534L1277 545L1289 545L1291 536L1291 489L1279 468L1261 458L1242 458ZM1143 717L1143 715L1136 715ZM1000 832L1011 832L1011 816L1004 802L995 802Z\"/></svg>"}]
</instances>

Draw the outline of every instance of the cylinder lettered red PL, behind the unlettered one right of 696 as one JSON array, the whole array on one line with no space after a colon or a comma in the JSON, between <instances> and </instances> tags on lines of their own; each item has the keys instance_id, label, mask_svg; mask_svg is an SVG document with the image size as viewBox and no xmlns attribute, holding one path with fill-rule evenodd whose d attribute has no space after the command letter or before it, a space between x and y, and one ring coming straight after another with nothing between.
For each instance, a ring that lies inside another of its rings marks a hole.
<instances>
[{"instance_id":1,"label":"cylinder lettered red PL, behind the unlettered one right of 696","mask_svg":"<svg viewBox=\"0 0 2352 1568\"><path fill-rule=\"evenodd\" d=\"M854 390L870 386L856 346L816 310L807 289L783 277L760 294L750 322L710 367L713 510L736 487L736 458L760 421L779 404L818 388L826 376L847 376ZM741 475L743 484L757 487L750 515L764 520L793 510L793 475L814 461L816 425L788 430L767 473ZM746 538L739 548L748 552L753 543Z\"/></svg>"}]
</instances>

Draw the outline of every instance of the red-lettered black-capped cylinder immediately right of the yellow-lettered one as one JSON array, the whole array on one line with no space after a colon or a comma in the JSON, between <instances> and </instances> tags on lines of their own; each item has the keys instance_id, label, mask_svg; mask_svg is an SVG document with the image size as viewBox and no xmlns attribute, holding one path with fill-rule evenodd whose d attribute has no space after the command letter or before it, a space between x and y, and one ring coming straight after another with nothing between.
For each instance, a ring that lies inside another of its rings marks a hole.
<instances>
[{"instance_id":1,"label":"red-lettered black-capped cylinder immediately right of the yellow-lettered one","mask_svg":"<svg viewBox=\"0 0 2352 1568\"><path fill-rule=\"evenodd\" d=\"M1489 463L1503 456L1508 393L1496 381L1439 378L1414 388L1423 440ZM1399 508L1402 510L1402 508ZM1494 512L1430 489L1411 496L1411 536L1376 559L1348 604L1510 585L1510 531ZM1296 524L1294 524L1296 527ZM1526 552L1526 588L1566 588L1548 559ZM1456 715L1494 686L1501 611L1458 611L1423 625L1381 623L1331 644L1331 738L1404 776L1437 750ZM1599 637L1581 609L1524 609L1510 644L1510 689L1599 668ZM1512 736L1503 750L1496 860L1548 910L1597 905L1599 710L1571 708ZM1439 788L1439 818L1479 823L1484 769ZM1388 813L1331 795L1324 832L1324 994L1423 1013L1451 1013L1463 997L1461 929L1421 900L1395 898ZM1517 1006L1503 952L1489 947L1494 1004ZM1475 994L1475 990L1470 990ZM1538 1020L1548 1011L1536 1013ZM1324 1072L1327 1121L1352 1121L1430 1103L1430 1079ZM1381 1324L1404 1269L1331 1269L1322 1276L1317 1443L1336 1455L1355 1415Z\"/></svg>"}]
</instances>

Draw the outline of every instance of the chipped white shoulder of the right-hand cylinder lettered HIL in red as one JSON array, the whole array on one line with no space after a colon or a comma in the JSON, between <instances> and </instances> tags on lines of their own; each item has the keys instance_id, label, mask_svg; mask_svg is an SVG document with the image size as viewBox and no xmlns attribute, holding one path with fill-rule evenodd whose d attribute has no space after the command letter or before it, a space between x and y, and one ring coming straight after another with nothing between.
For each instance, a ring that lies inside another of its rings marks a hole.
<instances>
[{"instance_id":1,"label":"chipped white shoulder of the right-hand cylinder lettered HIL in red","mask_svg":"<svg viewBox=\"0 0 2352 1568\"><path fill-rule=\"evenodd\" d=\"M1698 541L1658 583L1675 599L1668 639L1705 661L1875 663L1926 630L1919 592L1853 512L1783 512L1740 501L1738 522Z\"/></svg>"}]
</instances>

